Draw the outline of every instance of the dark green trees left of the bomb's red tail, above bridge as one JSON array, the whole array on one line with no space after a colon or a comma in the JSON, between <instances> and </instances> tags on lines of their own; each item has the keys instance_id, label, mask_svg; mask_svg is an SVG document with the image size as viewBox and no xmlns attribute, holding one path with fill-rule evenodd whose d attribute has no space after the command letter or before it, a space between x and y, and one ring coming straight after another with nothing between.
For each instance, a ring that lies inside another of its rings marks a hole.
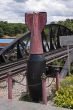
<instances>
[{"instance_id":1,"label":"dark green trees left of the bomb's red tail, above bridge","mask_svg":"<svg viewBox=\"0 0 73 110\"><path fill-rule=\"evenodd\" d=\"M4 35L15 36L27 31L27 27L22 23L8 23L0 21L0 28L3 30Z\"/></svg>"}]
</instances>

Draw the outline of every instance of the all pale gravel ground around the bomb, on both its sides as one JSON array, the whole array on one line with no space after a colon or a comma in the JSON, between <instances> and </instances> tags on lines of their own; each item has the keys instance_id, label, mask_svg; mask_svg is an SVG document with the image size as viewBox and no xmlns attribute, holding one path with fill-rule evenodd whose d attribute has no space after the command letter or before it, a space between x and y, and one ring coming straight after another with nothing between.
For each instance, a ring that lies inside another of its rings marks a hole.
<instances>
[{"instance_id":1,"label":"all pale gravel ground around the bomb, on both its sides","mask_svg":"<svg viewBox=\"0 0 73 110\"><path fill-rule=\"evenodd\" d=\"M23 79L23 74L24 73L14 77L14 79L20 82ZM26 77L24 78L24 80L21 83L26 85ZM52 86L50 86L51 83L52 83ZM1 86L6 86L6 87L1 88ZM51 99L53 97L51 90L55 86L55 80L52 78L47 79L46 86L47 86L47 96L48 96L48 100L49 100L48 104L53 105L53 102L51 101ZM12 89L12 99L19 100L21 93L26 92L26 91L27 91L26 86L20 85L19 83L15 83L13 85L13 89ZM8 94L7 93L7 82L5 81L5 82L0 83L0 98L7 99L8 98L7 94Z\"/></svg>"}]
</instances>

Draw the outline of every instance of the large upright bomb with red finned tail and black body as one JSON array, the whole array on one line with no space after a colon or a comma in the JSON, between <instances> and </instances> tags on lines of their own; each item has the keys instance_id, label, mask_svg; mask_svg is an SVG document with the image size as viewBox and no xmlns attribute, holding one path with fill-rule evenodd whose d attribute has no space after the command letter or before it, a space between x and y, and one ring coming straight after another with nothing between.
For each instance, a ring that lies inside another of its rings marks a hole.
<instances>
[{"instance_id":1,"label":"large upright bomb with red finned tail and black body","mask_svg":"<svg viewBox=\"0 0 73 110\"><path fill-rule=\"evenodd\" d=\"M27 63L27 81L32 100L38 102L42 98L41 75L45 73L45 58L41 32L46 24L46 12L26 13L25 23L31 31L30 56ZM29 86L35 85L35 86Z\"/></svg>"}]
</instances>

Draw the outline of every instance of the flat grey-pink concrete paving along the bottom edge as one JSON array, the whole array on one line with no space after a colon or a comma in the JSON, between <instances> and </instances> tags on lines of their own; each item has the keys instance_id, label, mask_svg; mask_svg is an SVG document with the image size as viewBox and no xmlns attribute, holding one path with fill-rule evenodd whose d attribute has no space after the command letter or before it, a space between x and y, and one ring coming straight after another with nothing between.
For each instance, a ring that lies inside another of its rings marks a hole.
<instances>
[{"instance_id":1,"label":"flat grey-pink concrete paving along the bottom edge","mask_svg":"<svg viewBox=\"0 0 73 110\"><path fill-rule=\"evenodd\" d=\"M71 110L23 101L0 99L0 110Z\"/></svg>"}]
</instances>

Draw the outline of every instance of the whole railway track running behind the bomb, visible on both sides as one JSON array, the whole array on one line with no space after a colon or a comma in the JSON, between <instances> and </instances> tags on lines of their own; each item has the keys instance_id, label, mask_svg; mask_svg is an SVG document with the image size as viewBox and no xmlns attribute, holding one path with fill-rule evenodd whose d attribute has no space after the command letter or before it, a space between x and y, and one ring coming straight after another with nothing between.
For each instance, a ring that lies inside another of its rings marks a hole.
<instances>
[{"instance_id":1,"label":"whole railway track running behind the bomb, visible on both sides","mask_svg":"<svg viewBox=\"0 0 73 110\"><path fill-rule=\"evenodd\" d=\"M71 51L72 49L73 47L70 47L69 51ZM49 63L57 59L67 57L67 49L62 48L62 49L54 50L52 52L44 54L44 56L46 60L46 65L48 65ZM27 70L27 59L28 57L24 59L20 59L15 62L0 65L0 81L3 81L7 78L7 73L9 71L11 72L12 76L17 75L23 71L26 71Z\"/></svg>"}]
</instances>

